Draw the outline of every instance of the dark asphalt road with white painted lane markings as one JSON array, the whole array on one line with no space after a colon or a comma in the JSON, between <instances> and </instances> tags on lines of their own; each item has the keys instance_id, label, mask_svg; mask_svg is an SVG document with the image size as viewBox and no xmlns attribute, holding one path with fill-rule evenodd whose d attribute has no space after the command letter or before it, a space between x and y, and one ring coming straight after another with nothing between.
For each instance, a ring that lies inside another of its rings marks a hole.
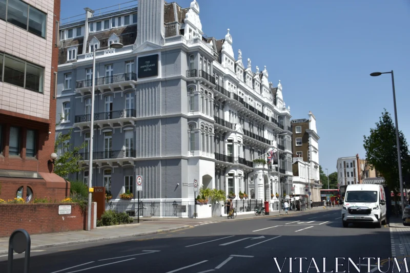
<instances>
[{"instance_id":1,"label":"dark asphalt road with white painted lane markings","mask_svg":"<svg viewBox=\"0 0 410 273\"><path fill-rule=\"evenodd\" d=\"M32 253L30 273L101 272L367 272L361 257L391 257L389 228L368 225L343 228L340 211L326 209L282 217L228 221L171 233L115 241L40 249ZM42 251L43 250L43 251ZM23 259L14 260L14 272L23 272ZM294 258L306 258L297 259ZM276 258L276 260L274 259ZM323 261L323 258L326 258ZM353 263L348 263L351 258ZM3 259L3 260L2 260ZM0 257L0 272L7 272L7 257ZM276 262L275 262L276 261ZM277 264L276 264L277 263ZM360 266L360 264L362 264ZM371 272L377 267L372 261ZM325 266L325 268L323 268ZM388 268L382 267L383 271Z\"/></svg>"}]
</instances>

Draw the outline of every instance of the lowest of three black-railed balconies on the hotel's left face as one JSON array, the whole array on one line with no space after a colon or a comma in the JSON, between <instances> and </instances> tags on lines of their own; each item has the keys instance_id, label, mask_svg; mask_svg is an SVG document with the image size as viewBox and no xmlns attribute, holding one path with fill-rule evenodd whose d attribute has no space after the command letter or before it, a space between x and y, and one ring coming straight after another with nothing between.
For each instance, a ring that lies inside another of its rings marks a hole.
<instances>
[{"instance_id":1,"label":"lowest of three black-railed balconies on the hotel's left face","mask_svg":"<svg viewBox=\"0 0 410 273\"><path fill-rule=\"evenodd\" d=\"M80 161L87 161L90 160L90 153L79 153L81 160ZM129 149L129 150L117 150L117 151L101 151L101 152L93 152L93 162L95 160L99 160L97 162L97 165L102 165L104 161L110 162L109 165L112 166L112 162L118 162L121 164L121 162L127 161L129 159L135 158L136 157L136 151ZM87 162L83 162L87 163Z\"/></svg>"}]
</instances>

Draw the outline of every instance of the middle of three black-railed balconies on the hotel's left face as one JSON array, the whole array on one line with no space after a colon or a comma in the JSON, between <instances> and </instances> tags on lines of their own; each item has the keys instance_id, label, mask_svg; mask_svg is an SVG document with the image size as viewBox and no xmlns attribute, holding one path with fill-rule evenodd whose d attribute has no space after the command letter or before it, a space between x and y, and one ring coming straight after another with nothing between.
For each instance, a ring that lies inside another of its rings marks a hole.
<instances>
[{"instance_id":1,"label":"middle of three black-railed balconies on the hotel's left face","mask_svg":"<svg viewBox=\"0 0 410 273\"><path fill-rule=\"evenodd\" d=\"M101 112L94 114L94 124L98 124L99 127L103 127L104 124L109 124L111 127L113 123L119 123L121 126L124 122L131 122L134 124L134 119L137 116L135 109L123 109L110 112ZM74 118L74 124L81 130L88 126L91 121L91 114L77 115Z\"/></svg>"}]
</instances>

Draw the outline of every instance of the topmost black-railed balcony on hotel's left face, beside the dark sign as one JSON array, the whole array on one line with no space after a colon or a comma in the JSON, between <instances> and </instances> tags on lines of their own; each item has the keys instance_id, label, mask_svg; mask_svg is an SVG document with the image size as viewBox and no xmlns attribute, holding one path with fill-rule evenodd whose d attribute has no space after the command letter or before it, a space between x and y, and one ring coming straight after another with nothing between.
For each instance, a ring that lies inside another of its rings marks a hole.
<instances>
[{"instance_id":1,"label":"topmost black-railed balcony on hotel's left face, beside the dark sign","mask_svg":"<svg viewBox=\"0 0 410 273\"><path fill-rule=\"evenodd\" d=\"M77 93L84 95L84 92L91 92L92 88L92 79L78 80L75 83L75 89ZM110 89L114 91L114 88L121 88L124 90L126 86L131 86L135 88L137 84L137 74L135 73L122 73L111 76L99 77L95 79L95 86L99 90Z\"/></svg>"}]
</instances>

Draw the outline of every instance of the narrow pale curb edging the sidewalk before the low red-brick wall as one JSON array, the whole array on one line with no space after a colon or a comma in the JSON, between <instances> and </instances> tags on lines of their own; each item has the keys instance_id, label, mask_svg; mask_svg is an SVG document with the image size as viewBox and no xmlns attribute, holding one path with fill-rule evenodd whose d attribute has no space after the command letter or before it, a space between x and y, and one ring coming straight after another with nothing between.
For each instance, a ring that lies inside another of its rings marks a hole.
<instances>
[{"instance_id":1,"label":"narrow pale curb edging the sidewalk before the low red-brick wall","mask_svg":"<svg viewBox=\"0 0 410 273\"><path fill-rule=\"evenodd\" d=\"M167 229L158 229L152 232L143 232L143 233L134 233L134 234L124 234L124 235L117 235L117 236L110 236L110 237L100 237L100 238L93 238L93 239L85 239L85 240L78 240L78 241L71 241L71 242L64 242L64 243L56 243L56 244L47 244L47 245L36 245L30 248L30 250L40 249L40 248L50 248L55 246L65 246L65 245L73 245L73 244L83 244L83 243L91 243L91 242L99 242L99 241L107 241L113 239L120 239L120 238L127 238L127 237L137 237L137 236L145 236L145 235L152 235L158 233L166 233L173 230L184 229L190 227L189 225L178 226L178 227L171 227ZM1 254L8 254L8 250L0 250Z\"/></svg>"}]
</instances>

